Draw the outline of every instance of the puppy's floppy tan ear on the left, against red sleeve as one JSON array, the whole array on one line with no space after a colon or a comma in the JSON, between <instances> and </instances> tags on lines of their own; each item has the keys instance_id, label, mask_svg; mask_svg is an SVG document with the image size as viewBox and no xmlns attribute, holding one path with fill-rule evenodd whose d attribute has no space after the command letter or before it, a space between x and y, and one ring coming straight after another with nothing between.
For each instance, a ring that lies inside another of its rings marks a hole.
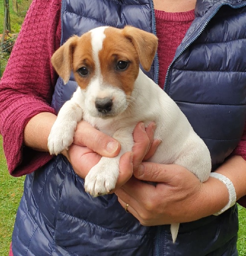
<instances>
[{"instance_id":1,"label":"puppy's floppy tan ear on the left, against red sleeve","mask_svg":"<svg viewBox=\"0 0 246 256\"><path fill-rule=\"evenodd\" d=\"M51 57L51 63L55 71L67 84L72 70L72 58L74 48L77 45L78 36L69 38L60 48L58 48Z\"/></svg>"}]
</instances>

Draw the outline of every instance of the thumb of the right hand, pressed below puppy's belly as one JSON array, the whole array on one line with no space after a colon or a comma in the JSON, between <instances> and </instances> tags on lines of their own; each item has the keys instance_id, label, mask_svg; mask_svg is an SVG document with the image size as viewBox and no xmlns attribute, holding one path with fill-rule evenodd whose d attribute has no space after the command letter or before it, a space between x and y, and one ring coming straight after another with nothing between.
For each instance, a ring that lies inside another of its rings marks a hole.
<instances>
[{"instance_id":1,"label":"thumb of the right hand, pressed below puppy's belly","mask_svg":"<svg viewBox=\"0 0 246 256\"><path fill-rule=\"evenodd\" d=\"M139 180L168 183L177 175L177 165L142 162L133 175Z\"/></svg>"}]
</instances>

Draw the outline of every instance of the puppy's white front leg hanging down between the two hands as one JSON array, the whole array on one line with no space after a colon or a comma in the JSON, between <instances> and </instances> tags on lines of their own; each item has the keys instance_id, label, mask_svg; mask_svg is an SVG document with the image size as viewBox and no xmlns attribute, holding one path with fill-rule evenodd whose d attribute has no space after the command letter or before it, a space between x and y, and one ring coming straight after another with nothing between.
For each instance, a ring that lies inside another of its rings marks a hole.
<instances>
[{"instance_id":1,"label":"puppy's white front leg hanging down between the two hands","mask_svg":"<svg viewBox=\"0 0 246 256\"><path fill-rule=\"evenodd\" d=\"M134 128L134 127L133 127ZM85 177L84 188L86 192L94 197L98 195L108 194L116 186L119 177L119 160L127 151L131 151L133 147L133 128L118 131L113 138L121 144L121 151L116 157L101 157L101 160L90 169Z\"/></svg>"}]
</instances>

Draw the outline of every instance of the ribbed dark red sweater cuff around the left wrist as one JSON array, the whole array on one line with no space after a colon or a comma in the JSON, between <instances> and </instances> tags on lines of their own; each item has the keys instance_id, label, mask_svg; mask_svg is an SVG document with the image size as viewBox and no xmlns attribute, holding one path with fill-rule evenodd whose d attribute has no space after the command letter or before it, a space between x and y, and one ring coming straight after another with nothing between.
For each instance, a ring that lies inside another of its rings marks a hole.
<instances>
[{"instance_id":1,"label":"ribbed dark red sweater cuff around the left wrist","mask_svg":"<svg viewBox=\"0 0 246 256\"><path fill-rule=\"evenodd\" d=\"M10 175L17 177L29 174L52 158L48 152L35 151L23 146L26 124L41 112L55 114L55 110L40 99L23 96L0 115L0 123L3 124L3 149Z\"/></svg>"}]
</instances>

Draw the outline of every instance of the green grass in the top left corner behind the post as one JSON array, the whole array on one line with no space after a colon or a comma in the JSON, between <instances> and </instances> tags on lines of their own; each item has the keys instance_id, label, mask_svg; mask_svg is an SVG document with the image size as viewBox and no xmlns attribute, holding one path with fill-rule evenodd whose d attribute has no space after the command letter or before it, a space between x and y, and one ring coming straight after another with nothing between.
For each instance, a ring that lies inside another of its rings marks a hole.
<instances>
[{"instance_id":1,"label":"green grass in the top left corner behind the post","mask_svg":"<svg viewBox=\"0 0 246 256\"><path fill-rule=\"evenodd\" d=\"M29 8L28 0L18 0L20 12L17 14L13 10L12 0L9 0L9 14L10 14L10 24L11 33L18 33L20 31L21 25L23 23L24 17L26 15L26 10ZM4 9L3 0L0 0L0 34L3 34L3 21L4 21Z\"/></svg>"}]
</instances>

